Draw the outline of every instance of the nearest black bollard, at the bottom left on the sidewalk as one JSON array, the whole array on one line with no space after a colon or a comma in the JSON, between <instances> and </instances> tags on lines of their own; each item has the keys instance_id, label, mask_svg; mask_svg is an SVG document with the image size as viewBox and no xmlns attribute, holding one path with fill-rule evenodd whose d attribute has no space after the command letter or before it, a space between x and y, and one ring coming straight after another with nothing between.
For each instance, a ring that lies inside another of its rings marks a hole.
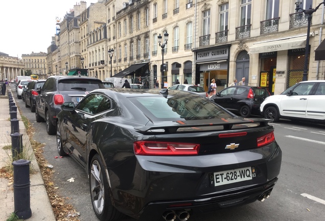
<instances>
[{"instance_id":1,"label":"nearest black bollard, at the bottom left on the sidewalk","mask_svg":"<svg viewBox=\"0 0 325 221\"><path fill-rule=\"evenodd\" d=\"M14 171L14 205L16 215L20 219L28 219L32 216L31 192L29 177L29 160L17 160L12 162Z\"/></svg>"}]
</instances>

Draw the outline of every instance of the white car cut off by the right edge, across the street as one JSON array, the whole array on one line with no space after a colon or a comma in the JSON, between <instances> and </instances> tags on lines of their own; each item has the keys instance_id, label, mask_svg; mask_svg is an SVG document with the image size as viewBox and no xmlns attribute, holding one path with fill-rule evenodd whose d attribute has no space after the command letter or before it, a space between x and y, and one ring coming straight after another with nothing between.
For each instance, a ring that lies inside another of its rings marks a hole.
<instances>
[{"instance_id":1,"label":"white car cut off by the right edge, across the street","mask_svg":"<svg viewBox=\"0 0 325 221\"><path fill-rule=\"evenodd\" d=\"M325 80L302 81L280 95L267 98L260 108L262 116L325 122Z\"/></svg>"}]
</instances>

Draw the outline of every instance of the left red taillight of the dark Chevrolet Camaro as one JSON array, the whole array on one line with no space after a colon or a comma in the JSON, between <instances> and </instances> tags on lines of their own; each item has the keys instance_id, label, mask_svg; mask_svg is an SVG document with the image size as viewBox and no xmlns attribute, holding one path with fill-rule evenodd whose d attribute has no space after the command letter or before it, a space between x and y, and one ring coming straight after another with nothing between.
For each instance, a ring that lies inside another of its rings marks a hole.
<instances>
[{"instance_id":1,"label":"left red taillight of the dark Chevrolet Camaro","mask_svg":"<svg viewBox=\"0 0 325 221\"><path fill-rule=\"evenodd\" d=\"M200 144L135 141L133 143L133 148L136 155L189 156L189 155L198 154L200 149Z\"/></svg>"}]
</instances>

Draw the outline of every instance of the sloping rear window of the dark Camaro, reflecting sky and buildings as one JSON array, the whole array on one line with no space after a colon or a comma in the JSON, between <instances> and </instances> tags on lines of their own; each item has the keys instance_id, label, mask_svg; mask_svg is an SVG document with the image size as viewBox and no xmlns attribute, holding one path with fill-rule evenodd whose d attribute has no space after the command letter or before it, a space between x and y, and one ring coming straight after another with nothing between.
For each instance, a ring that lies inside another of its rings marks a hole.
<instances>
[{"instance_id":1,"label":"sloping rear window of the dark Camaro, reflecting sky and buildings","mask_svg":"<svg viewBox=\"0 0 325 221\"><path fill-rule=\"evenodd\" d=\"M214 102L202 97L173 96L129 98L149 118L164 120L202 120L231 117ZM150 117L151 116L151 117Z\"/></svg>"}]
</instances>

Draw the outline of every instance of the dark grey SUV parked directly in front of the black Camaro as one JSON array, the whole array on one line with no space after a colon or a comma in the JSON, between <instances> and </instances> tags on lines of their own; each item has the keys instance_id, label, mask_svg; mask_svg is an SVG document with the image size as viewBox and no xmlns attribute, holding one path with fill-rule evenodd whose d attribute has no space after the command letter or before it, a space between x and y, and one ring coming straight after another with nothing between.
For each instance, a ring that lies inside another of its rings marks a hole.
<instances>
[{"instance_id":1,"label":"dark grey SUV parked directly in front of the black Camaro","mask_svg":"<svg viewBox=\"0 0 325 221\"><path fill-rule=\"evenodd\" d=\"M72 101L78 104L84 96L95 89L105 89L102 81L93 77L51 76L42 88L37 89L35 99L35 117L37 122L47 124L47 132L56 132L56 116L61 111L61 104Z\"/></svg>"}]
</instances>

